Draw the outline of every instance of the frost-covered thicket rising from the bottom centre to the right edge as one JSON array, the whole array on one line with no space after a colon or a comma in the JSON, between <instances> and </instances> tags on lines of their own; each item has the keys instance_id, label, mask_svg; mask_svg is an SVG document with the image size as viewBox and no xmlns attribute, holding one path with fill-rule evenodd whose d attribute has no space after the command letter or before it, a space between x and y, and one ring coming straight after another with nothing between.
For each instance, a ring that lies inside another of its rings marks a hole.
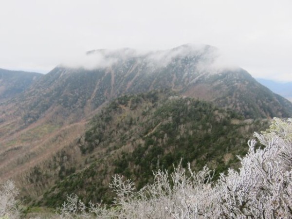
<instances>
[{"instance_id":1,"label":"frost-covered thicket rising from the bottom centre to the right edge","mask_svg":"<svg viewBox=\"0 0 292 219\"><path fill-rule=\"evenodd\" d=\"M274 118L270 129L255 133L239 171L229 169L212 182L206 166L199 172L180 165L172 174L154 173L154 181L137 191L114 176L113 206L86 209L76 196L63 204L61 218L112 219L290 219L292 218L292 120ZM258 145L257 145L258 144ZM258 149L256 149L258 148Z\"/></svg>"}]
</instances>

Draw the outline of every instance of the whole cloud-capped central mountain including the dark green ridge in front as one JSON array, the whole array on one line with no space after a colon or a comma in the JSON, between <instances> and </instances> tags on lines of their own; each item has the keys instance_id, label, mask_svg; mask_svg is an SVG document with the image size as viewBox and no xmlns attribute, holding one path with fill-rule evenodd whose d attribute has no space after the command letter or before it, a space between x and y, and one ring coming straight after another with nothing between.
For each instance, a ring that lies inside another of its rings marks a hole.
<instances>
[{"instance_id":1,"label":"whole cloud-capped central mountain including the dark green ridge in front","mask_svg":"<svg viewBox=\"0 0 292 219\"><path fill-rule=\"evenodd\" d=\"M27 202L52 206L74 189L109 201L111 174L141 187L181 157L236 166L252 132L292 116L292 103L240 68L216 67L215 51L96 50L94 68L60 65L36 78L0 104L1 181L15 179Z\"/></svg>"}]
</instances>

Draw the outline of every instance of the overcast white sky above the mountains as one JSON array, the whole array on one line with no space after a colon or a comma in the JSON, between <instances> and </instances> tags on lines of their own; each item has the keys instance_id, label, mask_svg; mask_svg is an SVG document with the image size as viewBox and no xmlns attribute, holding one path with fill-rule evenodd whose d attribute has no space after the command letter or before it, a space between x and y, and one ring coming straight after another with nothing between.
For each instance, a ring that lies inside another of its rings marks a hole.
<instances>
[{"instance_id":1,"label":"overcast white sky above the mountains","mask_svg":"<svg viewBox=\"0 0 292 219\"><path fill-rule=\"evenodd\" d=\"M0 0L0 68L48 73L92 49L184 43L292 81L292 0Z\"/></svg>"}]
</instances>

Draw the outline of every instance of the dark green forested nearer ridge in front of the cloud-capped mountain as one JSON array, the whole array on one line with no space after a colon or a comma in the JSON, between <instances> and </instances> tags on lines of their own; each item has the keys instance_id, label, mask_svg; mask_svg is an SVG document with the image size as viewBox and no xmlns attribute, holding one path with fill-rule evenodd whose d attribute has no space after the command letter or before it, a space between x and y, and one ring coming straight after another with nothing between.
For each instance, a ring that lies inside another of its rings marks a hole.
<instances>
[{"instance_id":1,"label":"dark green forested nearer ridge in front of the cloud-capped mountain","mask_svg":"<svg viewBox=\"0 0 292 219\"><path fill-rule=\"evenodd\" d=\"M55 157L58 164L30 176L37 185L59 179L35 204L57 206L71 193L84 201L110 202L113 174L141 188L153 180L152 171L171 172L181 159L184 167L191 162L199 170L207 164L219 174L237 167L235 155L244 155L248 138L267 123L169 90L119 97L92 118L75 146L80 151L64 149Z\"/></svg>"}]
</instances>

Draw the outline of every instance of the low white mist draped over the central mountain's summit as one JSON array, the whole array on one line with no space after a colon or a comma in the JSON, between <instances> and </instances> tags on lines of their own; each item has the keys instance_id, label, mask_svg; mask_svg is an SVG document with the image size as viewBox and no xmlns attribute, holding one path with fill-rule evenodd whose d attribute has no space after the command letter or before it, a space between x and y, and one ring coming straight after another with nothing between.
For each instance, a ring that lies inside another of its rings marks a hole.
<instances>
[{"instance_id":1,"label":"low white mist draped over the central mountain's summit","mask_svg":"<svg viewBox=\"0 0 292 219\"><path fill-rule=\"evenodd\" d=\"M61 66L84 68L87 70L104 69L118 62L134 58L149 69L164 68L175 58L189 58L196 65L197 73L220 73L224 69L238 69L238 66L226 62L216 47L210 45L184 44L169 50L146 51L123 48L118 50L99 49L86 54L71 56Z\"/></svg>"}]
</instances>

